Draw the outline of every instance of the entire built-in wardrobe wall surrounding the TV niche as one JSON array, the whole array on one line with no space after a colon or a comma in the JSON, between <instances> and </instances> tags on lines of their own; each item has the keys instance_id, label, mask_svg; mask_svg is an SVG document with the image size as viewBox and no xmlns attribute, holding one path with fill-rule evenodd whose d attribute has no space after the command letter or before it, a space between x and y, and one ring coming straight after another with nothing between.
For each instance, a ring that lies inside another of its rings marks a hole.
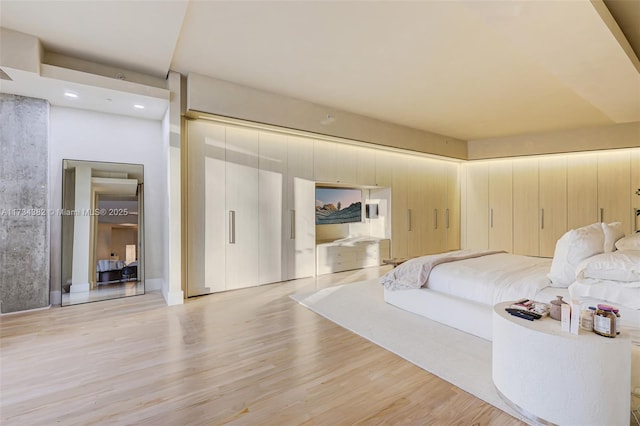
<instances>
[{"instance_id":1,"label":"entire built-in wardrobe wall surrounding the TV niche","mask_svg":"<svg viewBox=\"0 0 640 426\"><path fill-rule=\"evenodd\" d=\"M460 161L206 119L185 133L189 297L315 275L316 184L379 203L350 231L392 257L460 247Z\"/></svg>"}]
</instances>

